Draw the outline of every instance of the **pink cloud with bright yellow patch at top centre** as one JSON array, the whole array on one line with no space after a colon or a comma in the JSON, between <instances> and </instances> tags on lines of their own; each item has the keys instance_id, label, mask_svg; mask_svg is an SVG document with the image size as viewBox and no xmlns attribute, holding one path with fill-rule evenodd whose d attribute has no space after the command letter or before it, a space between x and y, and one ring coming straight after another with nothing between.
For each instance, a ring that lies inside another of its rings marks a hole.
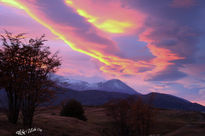
<instances>
[{"instance_id":1,"label":"pink cloud with bright yellow patch at top centre","mask_svg":"<svg viewBox=\"0 0 205 136\"><path fill-rule=\"evenodd\" d=\"M65 0L65 2L88 22L108 33L129 33L143 24L144 15L135 10L123 8L120 1L84 0L82 3L80 0Z\"/></svg>"}]
</instances>

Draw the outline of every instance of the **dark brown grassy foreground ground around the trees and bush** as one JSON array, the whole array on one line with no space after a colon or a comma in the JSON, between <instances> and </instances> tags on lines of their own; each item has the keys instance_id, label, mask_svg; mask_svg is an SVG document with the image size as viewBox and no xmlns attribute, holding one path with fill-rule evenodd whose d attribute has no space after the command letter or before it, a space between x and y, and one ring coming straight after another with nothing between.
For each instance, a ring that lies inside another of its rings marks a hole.
<instances>
[{"instance_id":1,"label":"dark brown grassy foreground ground around the trees and bush","mask_svg":"<svg viewBox=\"0 0 205 136\"><path fill-rule=\"evenodd\" d=\"M84 107L87 122L59 116L61 107L42 108L36 112L34 127L41 128L35 136L112 136L112 119L103 107ZM205 114L175 110L157 110L152 136L204 136ZM8 123L0 113L0 136L15 135L22 129L21 118L17 125Z\"/></svg>"}]
</instances>

